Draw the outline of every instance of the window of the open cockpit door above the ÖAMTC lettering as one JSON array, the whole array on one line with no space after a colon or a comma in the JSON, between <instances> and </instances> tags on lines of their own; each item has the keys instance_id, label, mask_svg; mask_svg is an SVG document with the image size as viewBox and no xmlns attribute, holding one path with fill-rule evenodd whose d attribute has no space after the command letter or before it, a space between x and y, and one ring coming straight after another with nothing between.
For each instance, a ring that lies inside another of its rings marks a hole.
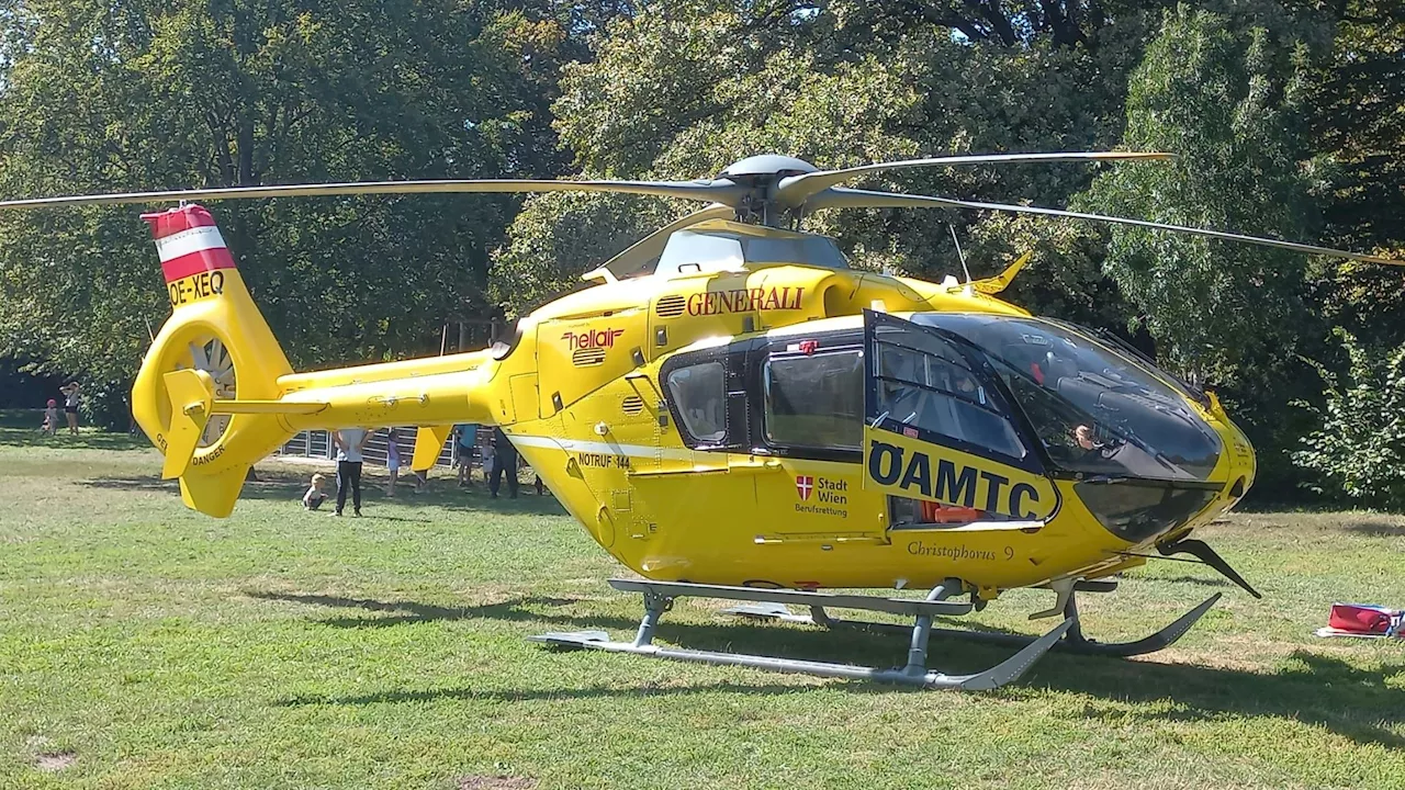
<instances>
[{"instance_id":1,"label":"window of the open cockpit door above the \u00d6AMTC lettering","mask_svg":"<svg viewBox=\"0 0 1405 790\"><path fill-rule=\"evenodd\" d=\"M934 433L1010 458L1026 455L998 396L965 358L939 337L882 332L877 337L874 375L878 413L916 430Z\"/></svg>"}]
</instances>

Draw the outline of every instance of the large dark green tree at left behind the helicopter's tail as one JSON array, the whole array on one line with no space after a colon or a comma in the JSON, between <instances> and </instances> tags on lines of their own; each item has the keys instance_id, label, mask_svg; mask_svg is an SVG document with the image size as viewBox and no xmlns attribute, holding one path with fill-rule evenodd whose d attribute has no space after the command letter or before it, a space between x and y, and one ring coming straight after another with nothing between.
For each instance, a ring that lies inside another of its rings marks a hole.
<instances>
[{"instance_id":1,"label":"large dark green tree at left behind the helicopter's tail","mask_svg":"<svg viewBox=\"0 0 1405 790\"><path fill-rule=\"evenodd\" d=\"M455 0L6 0L0 193L555 174L544 117L555 79L542 70L558 67L572 14ZM488 309L489 250L517 204L211 209L306 365L438 347L447 316ZM166 315L157 271L132 208L7 212L0 353L124 392Z\"/></svg>"}]
</instances>

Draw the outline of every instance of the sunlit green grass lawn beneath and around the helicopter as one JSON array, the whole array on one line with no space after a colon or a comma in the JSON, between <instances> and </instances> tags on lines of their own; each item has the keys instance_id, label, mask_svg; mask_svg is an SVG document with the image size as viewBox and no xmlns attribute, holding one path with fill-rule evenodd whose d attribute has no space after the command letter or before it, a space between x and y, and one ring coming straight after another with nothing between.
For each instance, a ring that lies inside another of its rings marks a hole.
<instances>
[{"instance_id":1,"label":"sunlit green grass lawn beneath and around the helicopter","mask_svg":"<svg viewBox=\"0 0 1405 790\"><path fill-rule=\"evenodd\" d=\"M525 637L636 624L547 498L437 491L303 513L260 465L233 517L155 451L0 427L0 787L1405 787L1405 642L1319 640L1333 600L1405 606L1405 519L1250 513L1205 536L1263 593L1182 562L1083 599L1137 661L1045 656L995 693L922 692ZM11 423L14 425L14 423ZM1026 633L1048 592L981 613ZM902 638L747 624L686 599L659 642L889 666ZM933 645L974 669L1007 649Z\"/></svg>"}]
</instances>

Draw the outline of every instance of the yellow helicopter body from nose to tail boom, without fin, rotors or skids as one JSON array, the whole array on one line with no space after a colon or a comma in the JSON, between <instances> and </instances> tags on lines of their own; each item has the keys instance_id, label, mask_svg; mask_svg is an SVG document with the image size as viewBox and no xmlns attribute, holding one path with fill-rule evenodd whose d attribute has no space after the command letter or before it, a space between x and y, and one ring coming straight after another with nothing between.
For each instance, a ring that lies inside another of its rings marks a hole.
<instances>
[{"instance_id":1,"label":"yellow helicopter body from nose to tail boom, without fin, rotors or skids","mask_svg":"<svg viewBox=\"0 0 1405 790\"><path fill-rule=\"evenodd\" d=\"M1208 522L1252 484L1242 433L1213 398L1179 391L1179 403L1124 396L1110 406L1175 412L1172 430L1177 419L1198 420L1204 441L1220 447L1194 475L1149 475L1151 489L1127 475L1055 470L1028 420L1007 415L1000 423L993 406L971 410L1012 399L992 371L969 370L981 380L971 391L979 402L953 401L1003 432L985 444L947 441L920 420L885 429L880 423L892 417L875 413L874 356L888 351L874 346L873 325L888 320L899 336L882 342L910 350L927 340L901 333L927 330L906 319L932 315L1038 320L951 280L784 260L698 267L566 295L492 351L282 377L285 399L332 405L282 419L289 430L500 425L620 562L651 579L719 585L891 589L961 578L993 597L1092 579L1142 564L1130 554ZM924 357L926 375L947 364L944 353ZM1149 365L1117 360L1156 377L1159 392L1175 389ZM691 378L680 385L683 374ZM936 385L917 389L951 401ZM806 391L813 408L797 402ZM992 441L1023 455L984 454ZM1100 444L1110 446L1152 457L1116 436ZM1100 486L1102 516L1085 502L1087 486ZM1106 492L1117 492L1111 506Z\"/></svg>"}]
</instances>

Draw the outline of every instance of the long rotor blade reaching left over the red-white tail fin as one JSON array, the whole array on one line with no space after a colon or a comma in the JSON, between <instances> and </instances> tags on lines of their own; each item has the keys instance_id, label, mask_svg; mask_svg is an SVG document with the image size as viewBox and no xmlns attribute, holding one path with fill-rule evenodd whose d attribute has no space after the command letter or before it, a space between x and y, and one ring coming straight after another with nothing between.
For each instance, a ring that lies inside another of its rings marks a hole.
<instances>
[{"instance_id":1,"label":"long rotor blade reaching left over the red-white tail fin","mask_svg":"<svg viewBox=\"0 0 1405 790\"><path fill-rule=\"evenodd\" d=\"M745 187L726 179L711 181L555 181L555 180L437 180L437 181L347 181L339 184L277 184L268 187L215 187L150 193L115 193L0 201L0 208L44 208L72 205L117 205L176 200L251 200L277 197L459 194L459 193L621 193L701 200L736 205Z\"/></svg>"}]
</instances>

